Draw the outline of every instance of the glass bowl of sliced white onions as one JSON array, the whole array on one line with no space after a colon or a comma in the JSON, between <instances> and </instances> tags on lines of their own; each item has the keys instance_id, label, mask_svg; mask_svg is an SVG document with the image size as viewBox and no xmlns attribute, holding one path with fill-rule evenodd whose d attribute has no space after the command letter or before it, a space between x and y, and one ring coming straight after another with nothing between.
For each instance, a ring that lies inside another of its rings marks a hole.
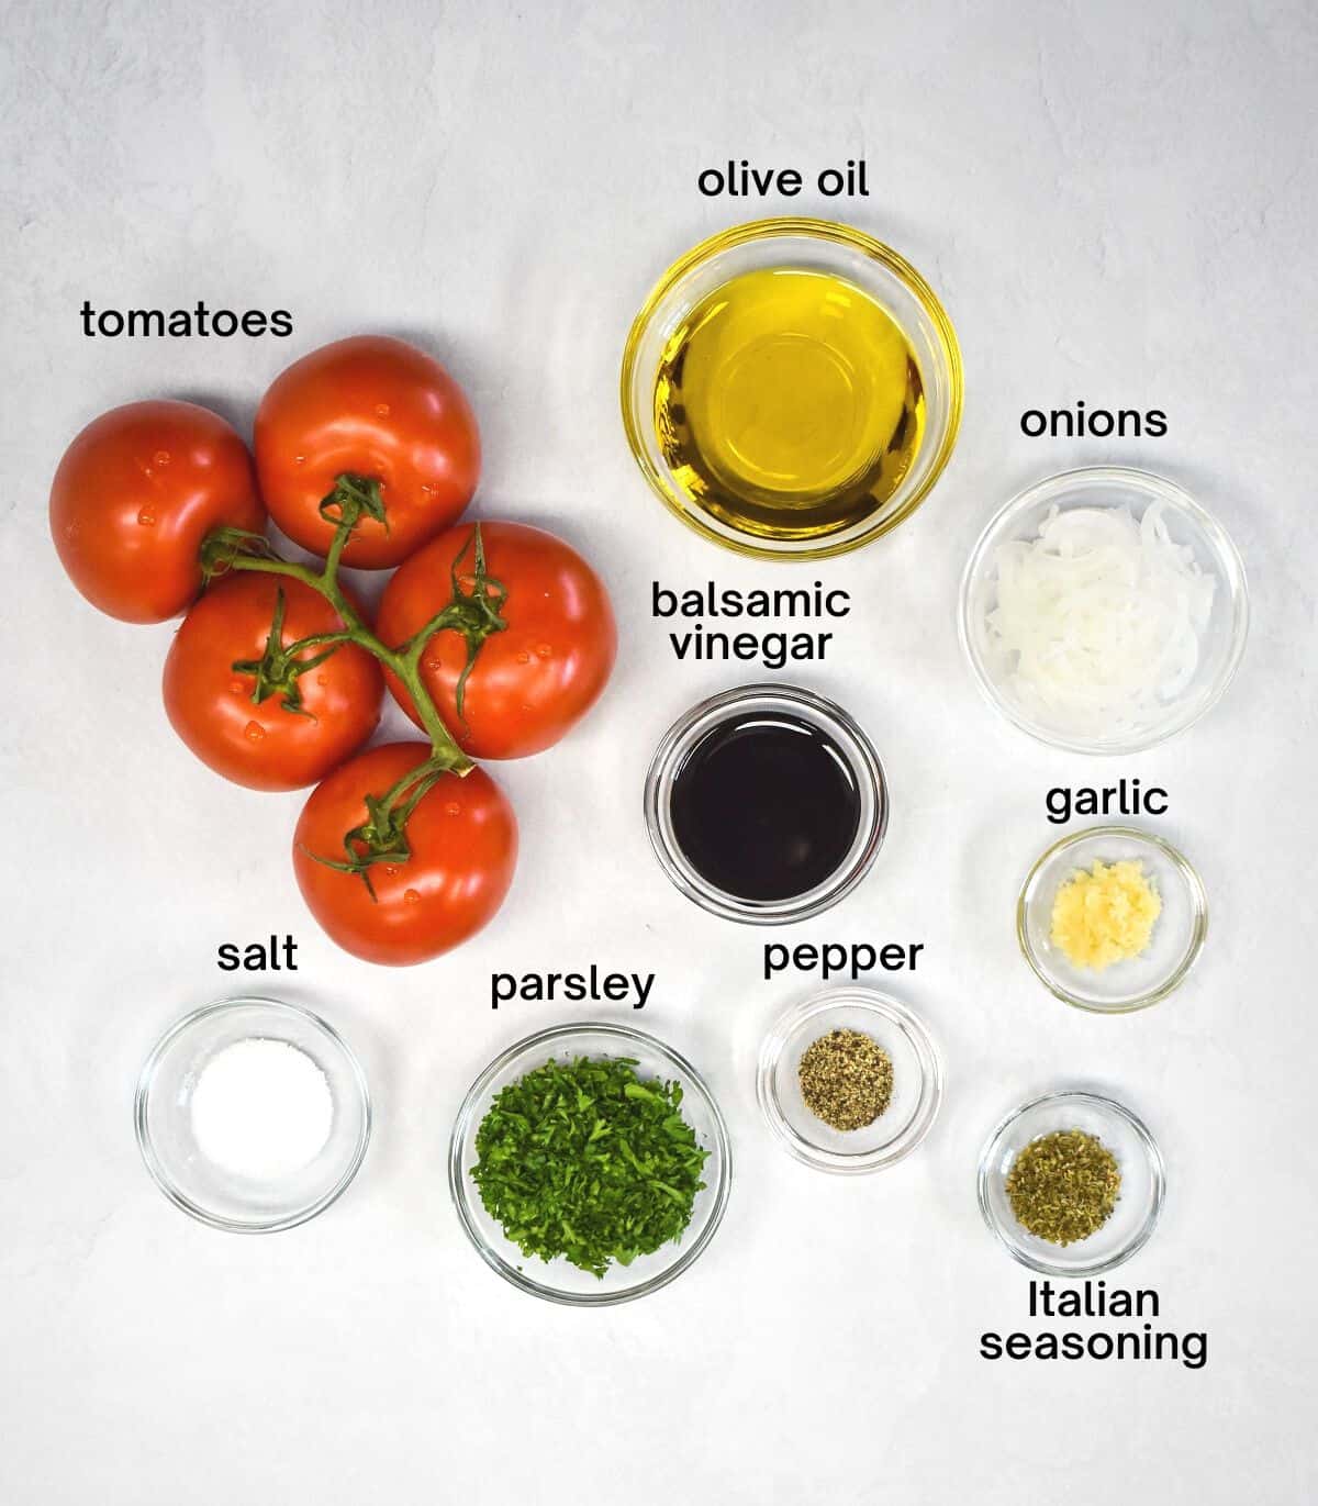
<instances>
[{"instance_id":1,"label":"glass bowl of sliced white onions","mask_svg":"<svg viewBox=\"0 0 1318 1506\"><path fill-rule=\"evenodd\" d=\"M1095 465L993 518L966 566L960 626L1009 721L1075 753L1139 753L1222 697L1249 592L1231 538L1187 491Z\"/></svg>"}]
</instances>

